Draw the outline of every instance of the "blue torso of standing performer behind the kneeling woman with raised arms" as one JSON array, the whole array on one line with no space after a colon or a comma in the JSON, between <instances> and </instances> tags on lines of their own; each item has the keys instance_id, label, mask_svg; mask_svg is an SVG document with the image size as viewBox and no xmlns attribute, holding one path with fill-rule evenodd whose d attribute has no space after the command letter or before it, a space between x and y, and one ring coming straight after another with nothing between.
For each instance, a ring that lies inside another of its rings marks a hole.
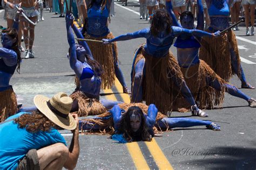
<instances>
[{"instance_id":1,"label":"blue torso of standing performer behind the kneeling woman with raised arms","mask_svg":"<svg viewBox=\"0 0 256 170\"><path fill-rule=\"evenodd\" d=\"M93 37L106 36L110 32L107 27L107 18L109 17L107 8L105 7L104 10L101 10L96 5L93 5L87 13L86 32Z\"/></svg>"}]
</instances>

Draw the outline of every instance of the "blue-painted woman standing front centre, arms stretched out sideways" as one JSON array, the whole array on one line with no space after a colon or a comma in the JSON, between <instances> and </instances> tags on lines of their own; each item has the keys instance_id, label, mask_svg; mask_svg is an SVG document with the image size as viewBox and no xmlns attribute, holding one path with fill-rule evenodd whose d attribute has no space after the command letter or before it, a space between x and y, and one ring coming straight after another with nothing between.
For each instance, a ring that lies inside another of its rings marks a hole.
<instances>
[{"instance_id":1,"label":"blue-painted woman standing front centre, arms stretched out sideways","mask_svg":"<svg viewBox=\"0 0 256 170\"><path fill-rule=\"evenodd\" d=\"M133 61L131 102L145 100L146 104L154 103L161 112L165 113L178 109L175 109L172 103L181 91L183 97L192 106L192 114L205 117L207 114L198 109L190 89L186 86L180 67L169 51L173 39L180 34L215 36L201 30L172 26L169 13L161 9L153 15L150 29L123 34L110 40L103 39L103 41L108 44L114 41L146 38L146 44L138 49Z\"/></svg>"}]
</instances>

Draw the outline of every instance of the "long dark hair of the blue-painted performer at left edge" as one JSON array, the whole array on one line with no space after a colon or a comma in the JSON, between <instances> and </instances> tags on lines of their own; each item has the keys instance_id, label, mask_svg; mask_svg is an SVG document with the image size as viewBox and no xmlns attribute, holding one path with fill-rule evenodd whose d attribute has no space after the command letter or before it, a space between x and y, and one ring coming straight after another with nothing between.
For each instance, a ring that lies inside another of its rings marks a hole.
<instances>
[{"instance_id":1,"label":"long dark hair of the blue-painted performer at left edge","mask_svg":"<svg viewBox=\"0 0 256 170\"><path fill-rule=\"evenodd\" d=\"M21 52L19 51L19 46L18 46L18 31L14 28L10 28L8 27L8 29L5 29L2 31L2 33L6 33L9 37L11 37L12 39L15 39L16 38L16 41L14 42L14 44L12 45L11 49L13 51L16 52L17 54L17 72L20 73L20 67L21 67L21 61L22 61L22 58L21 58Z\"/></svg>"}]
</instances>

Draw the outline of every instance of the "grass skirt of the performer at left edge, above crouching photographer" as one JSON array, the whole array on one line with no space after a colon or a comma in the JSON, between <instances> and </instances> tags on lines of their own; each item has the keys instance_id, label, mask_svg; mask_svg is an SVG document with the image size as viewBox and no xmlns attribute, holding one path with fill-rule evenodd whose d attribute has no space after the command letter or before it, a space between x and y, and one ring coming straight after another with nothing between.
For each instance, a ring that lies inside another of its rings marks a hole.
<instances>
[{"instance_id":1,"label":"grass skirt of the performer at left edge, above crouching photographer","mask_svg":"<svg viewBox=\"0 0 256 170\"><path fill-rule=\"evenodd\" d=\"M0 122L5 121L9 116L15 115L18 111L17 99L14 90L10 87L0 91Z\"/></svg>"}]
</instances>

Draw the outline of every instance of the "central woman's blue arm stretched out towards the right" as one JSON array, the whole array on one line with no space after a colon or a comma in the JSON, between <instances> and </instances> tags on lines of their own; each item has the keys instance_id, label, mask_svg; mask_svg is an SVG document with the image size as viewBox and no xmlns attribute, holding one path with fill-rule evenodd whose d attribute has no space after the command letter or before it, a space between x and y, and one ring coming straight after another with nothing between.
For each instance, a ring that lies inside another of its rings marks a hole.
<instances>
[{"instance_id":1,"label":"central woman's blue arm stretched out towards the right","mask_svg":"<svg viewBox=\"0 0 256 170\"><path fill-rule=\"evenodd\" d=\"M215 33L209 33L202 30L183 29L178 26L172 26L172 31L174 36L176 37L180 36L180 34L191 34L193 36L198 36L198 37L215 37L220 35L220 31L217 31Z\"/></svg>"}]
</instances>

